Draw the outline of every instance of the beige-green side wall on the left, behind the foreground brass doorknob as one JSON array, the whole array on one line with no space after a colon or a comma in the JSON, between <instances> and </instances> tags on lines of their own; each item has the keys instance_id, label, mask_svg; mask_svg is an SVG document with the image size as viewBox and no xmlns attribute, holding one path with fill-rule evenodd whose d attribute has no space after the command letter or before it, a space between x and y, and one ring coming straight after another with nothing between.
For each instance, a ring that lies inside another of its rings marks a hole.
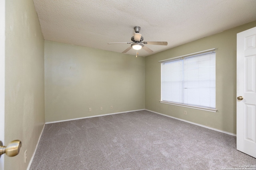
<instances>
[{"instance_id":1,"label":"beige-green side wall on the left, behind the foreground brass doorknob","mask_svg":"<svg viewBox=\"0 0 256 170\"><path fill-rule=\"evenodd\" d=\"M5 55L4 144L19 139L22 148L4 166L25 170L44 125L44 39L32 0L6 0Z\"/></svg>"}]
</instances>

